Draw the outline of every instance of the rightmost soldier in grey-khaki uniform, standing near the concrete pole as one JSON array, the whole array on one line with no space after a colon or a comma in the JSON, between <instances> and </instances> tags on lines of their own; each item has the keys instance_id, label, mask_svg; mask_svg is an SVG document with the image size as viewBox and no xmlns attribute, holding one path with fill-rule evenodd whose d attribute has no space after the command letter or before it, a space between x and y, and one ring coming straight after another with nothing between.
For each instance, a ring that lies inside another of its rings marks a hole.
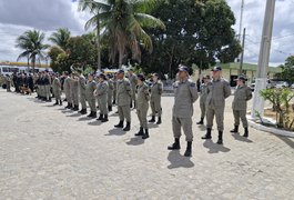
<instances>
[{"instance_id":1,"label":"rightmost soldier in grey-khaki uniform, standing near the concrete pole","mask_svg":"<svg viewBox=\"0 0 294 200\"><path fill-rule=\"evenodd\" d=\"M234 100L232 103L235 128L231 132L239 132L240 119L244 128L243 137L249 137L249 122L246 119L247 101L252 99L251 88L245 84L246 78L239 76L236 79L236 90L234 93Z\"/></svg>"}]
</instances>

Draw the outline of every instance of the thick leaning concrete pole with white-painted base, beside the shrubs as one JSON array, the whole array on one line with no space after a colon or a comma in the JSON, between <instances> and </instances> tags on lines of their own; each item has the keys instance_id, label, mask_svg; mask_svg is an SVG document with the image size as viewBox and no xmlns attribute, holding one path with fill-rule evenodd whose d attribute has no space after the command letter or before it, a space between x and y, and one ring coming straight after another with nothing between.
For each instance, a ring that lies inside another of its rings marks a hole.
<instances>
[{"instance_id":1,"label":"thick leaning concrete pole with white-painted base, beside the shrubs","mask_svg":"<svg viewBox=\"0 0 294 200\"><path fill-rule=\"evenodd\" d=\"M260 96L260 91L266 88L266 82L267 82L267 68L268 68L270 51L271 51L274 11L275 11L275 0L267 0L264 22L263 22L262 42L261 42L261 50L260 50L260 58L257 66L257 77L255 79L253 107L251 112L251 117L253 119L256 119L257 116L263 117L264 114L264 100Z\"/></svg>"}]
</instances>

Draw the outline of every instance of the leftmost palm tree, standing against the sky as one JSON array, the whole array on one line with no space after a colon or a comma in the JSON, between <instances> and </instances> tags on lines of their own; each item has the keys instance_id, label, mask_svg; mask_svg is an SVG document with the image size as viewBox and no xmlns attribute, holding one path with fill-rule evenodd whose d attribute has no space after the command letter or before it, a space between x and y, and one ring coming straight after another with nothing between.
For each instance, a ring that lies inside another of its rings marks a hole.
<instances>
[{"instance_id":1,"label":"leftmost palm tree, standing against the sky","mask_svg":"<svg viewBox=\"0 0 294 200\"><path fill-rule=\"evenodd\" d=\"M49 47L48 44L43 44L43 40L44 33L37 30L26 31L17 39L16 47L24 50L17 60L19 61L21 58L28 58L28 62L31 60L33 73L36 60L43 60L45 57L43 50Z\"/></svg>"}]
</instances>

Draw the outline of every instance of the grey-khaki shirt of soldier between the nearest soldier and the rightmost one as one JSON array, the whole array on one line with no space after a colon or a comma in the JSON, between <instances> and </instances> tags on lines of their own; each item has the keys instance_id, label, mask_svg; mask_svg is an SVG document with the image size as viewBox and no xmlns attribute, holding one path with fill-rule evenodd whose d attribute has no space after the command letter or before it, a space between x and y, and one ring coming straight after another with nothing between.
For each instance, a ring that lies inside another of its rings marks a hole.
<instances>
[{"instance_id":1,"label":"grey-khaki shirt of soldier between the nearest soldier and the rightmost one","mask_svg":"<svg viewBox=\"0 0 294 200\"><path fill-rule=\"evenodd\" d=\"M207 83L207 92L206 107L224 108L224 100L231 96L231 87L225 79L220 78Z\"/></svg>"}]
</instances>

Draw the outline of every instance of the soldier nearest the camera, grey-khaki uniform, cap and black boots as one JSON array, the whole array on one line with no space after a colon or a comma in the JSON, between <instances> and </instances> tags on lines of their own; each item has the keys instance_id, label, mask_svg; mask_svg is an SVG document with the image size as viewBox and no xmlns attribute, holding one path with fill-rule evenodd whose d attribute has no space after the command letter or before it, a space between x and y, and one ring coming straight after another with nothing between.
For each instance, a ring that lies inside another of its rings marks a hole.
<instances>
[{"instance_id":1,"label":"soldier nearest the camera, grey-khaki uniform, cap and black boots","mask_svg":"<svg viewBox=\"0 0 294 200\"><path fill-rule=\"evenodd\" d=\"M197 88L192 80L189 79L189 68L180 66L179 81L174 84L174 106L172 116L174 143L168 147L169 150L178 150L180 146L181 128L183 128L185 140L187 142L184 156L192 156L192 116L193 103L197 100Z\"/></svg>"}]
</instances>

